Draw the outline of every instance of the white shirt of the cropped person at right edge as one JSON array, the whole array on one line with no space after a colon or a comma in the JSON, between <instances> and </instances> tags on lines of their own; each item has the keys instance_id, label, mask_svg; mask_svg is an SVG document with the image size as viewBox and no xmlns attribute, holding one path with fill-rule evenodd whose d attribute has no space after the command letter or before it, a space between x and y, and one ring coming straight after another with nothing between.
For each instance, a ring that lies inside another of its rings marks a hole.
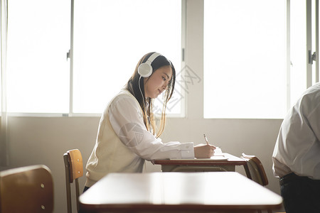
<instances>
[{"instance_id":1,"label":"white shirt of the cropped person at right edge","mask_svg":"<svg viewBox=\"0 0 320 213\"><path fill-rule=\"evenodd\" d=\"M304 92L282 122L272 155L273 173L320 180L320 84Z\"/></svg>"}]
</instances>

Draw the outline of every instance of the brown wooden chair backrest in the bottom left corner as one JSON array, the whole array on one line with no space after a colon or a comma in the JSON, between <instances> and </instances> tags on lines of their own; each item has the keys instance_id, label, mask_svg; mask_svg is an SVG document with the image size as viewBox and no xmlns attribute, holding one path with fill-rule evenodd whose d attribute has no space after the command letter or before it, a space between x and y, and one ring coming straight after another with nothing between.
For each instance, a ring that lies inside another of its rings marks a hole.
<instances>
[{"instance_id":1,"label":"brown wooden chair backrest in the bottom left corner","mask_svg":"<svg viewBox=\"0 0 320 213\"><path fill-rule=\"evenodd\" d=\"M53 212L53 178L46 165L0 172L0 212Z\"/></svg>"}]
</instances>

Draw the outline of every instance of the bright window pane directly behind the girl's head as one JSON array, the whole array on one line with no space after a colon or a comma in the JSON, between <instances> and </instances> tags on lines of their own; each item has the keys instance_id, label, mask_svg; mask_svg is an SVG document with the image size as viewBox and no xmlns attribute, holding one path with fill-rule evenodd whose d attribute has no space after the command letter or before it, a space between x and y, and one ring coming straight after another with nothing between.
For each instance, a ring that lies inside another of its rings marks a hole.
<instances>
[{"instance_id":1,"label":"bright window pane directly behind the girl's head","mask_svg":"<svg viewBox=\"0 0 320 213\"><path fill-rule=\"evenodd\" d=\"M73 112L101 113L154 51L181 70L181 0L75 1Z\"/></svg>"}]
</instances>

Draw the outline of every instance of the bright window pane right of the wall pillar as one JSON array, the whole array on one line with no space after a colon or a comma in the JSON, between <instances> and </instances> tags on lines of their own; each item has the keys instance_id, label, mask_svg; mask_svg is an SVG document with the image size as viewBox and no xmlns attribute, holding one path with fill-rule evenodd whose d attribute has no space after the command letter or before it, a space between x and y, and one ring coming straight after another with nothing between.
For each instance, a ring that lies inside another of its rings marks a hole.
<instances>
[{"instance_id":1,"label":"bright window pane right of the wall pillar","mask_svg":"<svg viewBox=\"0 0 320 213\"><path fill-rule=\"evenodd\" d=\"M286 1L204 1L205 118L282 118Z\"/></svg>"}]
</instances>

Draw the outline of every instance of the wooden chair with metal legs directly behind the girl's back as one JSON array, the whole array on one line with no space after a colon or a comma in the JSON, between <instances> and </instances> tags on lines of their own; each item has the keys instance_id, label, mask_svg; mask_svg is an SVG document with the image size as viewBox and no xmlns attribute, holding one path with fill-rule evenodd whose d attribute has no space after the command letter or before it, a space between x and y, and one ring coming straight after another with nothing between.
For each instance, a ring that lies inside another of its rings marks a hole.
<instances>
[{"instance_id":1,"label":"wooden chair with metal legs directly behind the girl's back","mask_svg":"<svg viewBox=\"0 0 320 213\"><path fill-rule=\"evenodd\" d=\"M79 180L83 175L82 155L78 149L67 151L63 155L65 161L65 186L67 190L67 206L68 213L72 212L71 190L70 186L75 180L75 196L77 203L77 211L79 212Z\"/></svg>"}]
</instances>

